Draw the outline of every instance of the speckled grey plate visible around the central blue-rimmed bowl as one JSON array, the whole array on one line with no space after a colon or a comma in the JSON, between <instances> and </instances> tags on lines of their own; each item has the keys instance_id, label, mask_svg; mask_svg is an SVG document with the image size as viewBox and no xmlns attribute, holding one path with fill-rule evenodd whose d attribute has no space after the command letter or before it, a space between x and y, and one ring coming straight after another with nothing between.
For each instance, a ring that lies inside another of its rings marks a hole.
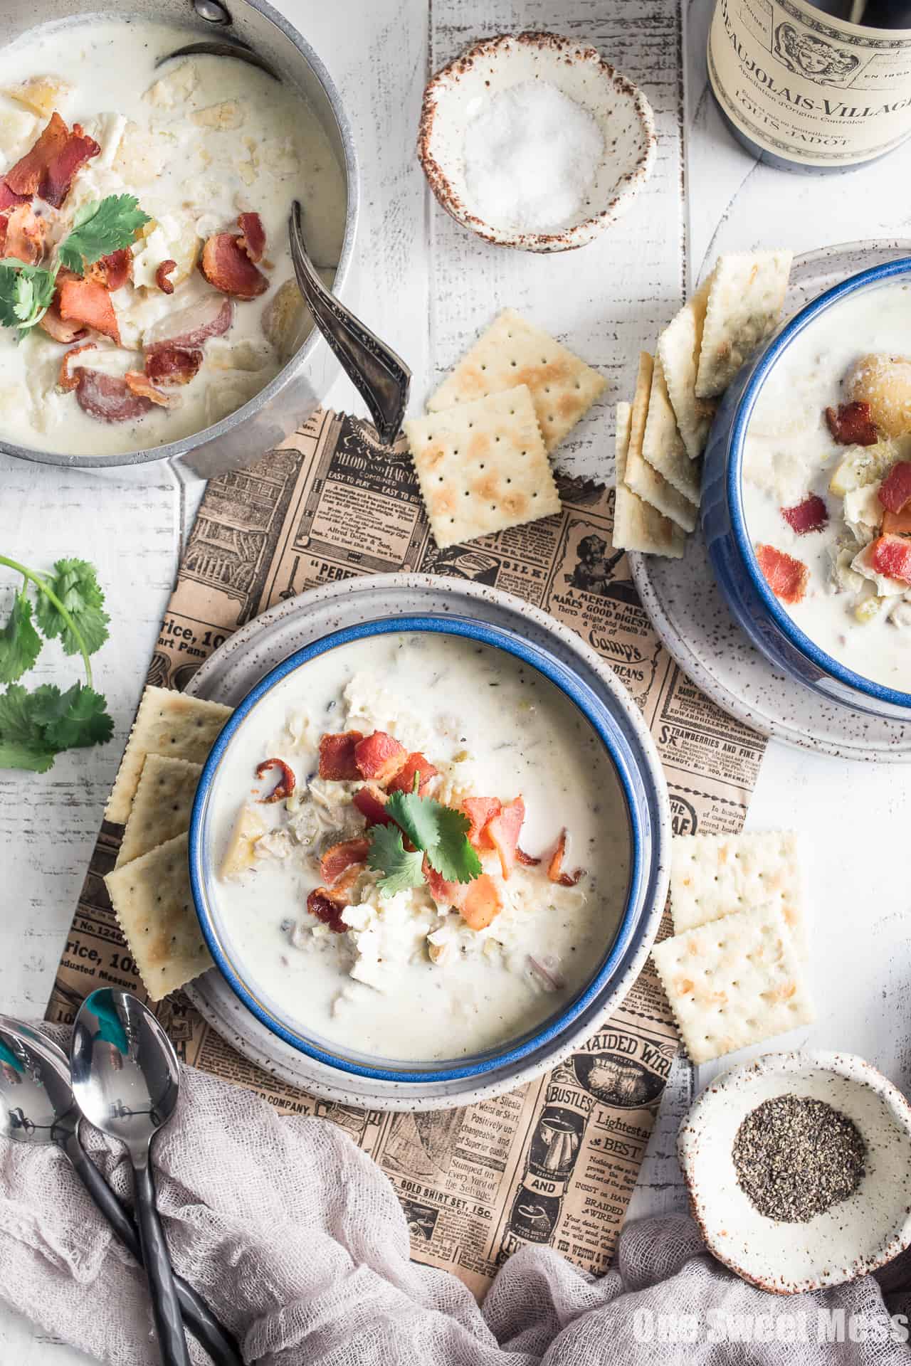
<instances>
[{"instance_id":1,"label":"speckled grey plate visible around the central blue-rimmed bowl","mask_svg":"<svg viewBox=\"0 0 911 1366\"><path fill-rule=\"evenodd\" d=\"M314 589L280 602L236 631L194 675L187 691L236 706L255 683L295 650L346 627L410 613L473 617L518 631L531 645L549 650L606 702L616 725L638 755L639 772L649 792L647 840L643 833L643 854L647 861L646 910L612 982L559 1038L550 1040L522 1060L505 1061L488 1071L482 1081L474 1076L393 1082L351 1075L299 1052L272 1033L247 1009L217 970L213 968L186 988L191 1001L223 1038L288 1085L347 1105L415 1111L468 1105L522 1086L567 1057L616 1009L646 960L664 908L671 813L651 736L638 708L612 671L575 632L553 617L508 593L483 585L426 574L384 574Z\"/></svg>"}]
</instances>

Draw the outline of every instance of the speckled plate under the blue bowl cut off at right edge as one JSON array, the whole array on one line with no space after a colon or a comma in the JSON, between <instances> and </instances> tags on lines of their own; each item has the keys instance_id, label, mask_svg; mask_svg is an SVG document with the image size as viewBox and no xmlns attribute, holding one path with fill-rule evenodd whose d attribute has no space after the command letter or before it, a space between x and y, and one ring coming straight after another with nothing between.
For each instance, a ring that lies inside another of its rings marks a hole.
<instances>
[{"instance_id":1,"label":"speckled plate under the blue bowl cut off at right edge","mask_svg":"<svg viewBox=\"0 0 911 1366\"><path fill-rule=\"evenodd\" d=\"M796 257L785 316L866 266L911 254L911 240L852 242ZM702 533L682 560L630 555L656 631L680 668L732 716L763 735L840 758L911 762L911 725L826 702L777 673L750 645L718 591Z\"/></svg>"}]
</instances>

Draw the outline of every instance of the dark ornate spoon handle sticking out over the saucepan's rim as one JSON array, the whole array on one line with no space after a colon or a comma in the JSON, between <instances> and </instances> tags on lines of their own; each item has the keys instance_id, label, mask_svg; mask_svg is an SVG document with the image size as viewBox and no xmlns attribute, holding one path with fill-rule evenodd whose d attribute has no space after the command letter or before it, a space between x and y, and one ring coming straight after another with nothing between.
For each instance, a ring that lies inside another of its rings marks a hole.
<instances>
[{"instance_id":1,"label":"dark ornate spoon handle sticking out over the saucepan's rim","mask_svg":"<svg viewBox=\"0 0 911 1366\"><path fill-rule=\"evenodd\" d=\"M303 239L298 199L288 221L291 261L300 294L313 321L336 354L341 369L367 404L382 445L392 445L402 430L411 385L411 370L402 357L355 318L317 275Z\"/></svg>"}]
</instances>

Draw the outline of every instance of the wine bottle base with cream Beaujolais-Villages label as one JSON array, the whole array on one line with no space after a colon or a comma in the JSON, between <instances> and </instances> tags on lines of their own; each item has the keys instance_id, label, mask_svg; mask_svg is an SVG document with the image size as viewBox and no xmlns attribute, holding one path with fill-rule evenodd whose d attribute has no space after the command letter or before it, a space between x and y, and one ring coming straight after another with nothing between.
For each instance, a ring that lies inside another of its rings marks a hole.
<instances>
[{"instance_id":1,"label":"wine bottle base with cream Beaujolais-Villages label","mask_svg":"<svg viewBox=\"0 0 911 1366\"><path fill-rule=\"evenodd\" d=\"M911 30L802 0L717 0L709 81L747 138L803 165L869 161L911 134Z\"/></svg>"}]
</instances>

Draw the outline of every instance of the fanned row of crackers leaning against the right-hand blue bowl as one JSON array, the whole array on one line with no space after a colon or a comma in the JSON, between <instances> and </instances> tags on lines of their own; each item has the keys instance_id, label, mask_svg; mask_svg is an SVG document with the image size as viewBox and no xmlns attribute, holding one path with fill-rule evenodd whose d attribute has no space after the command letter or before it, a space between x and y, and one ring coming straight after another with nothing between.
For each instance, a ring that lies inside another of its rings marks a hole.
<instances>
[{"instance_id":1,"label":"fanned row of crackers leaning against the right-hand blue bowl","mask_svg":"<svg viewBox=\"0 0 911 1366\"><path fill-rule=\"evenodd\" d=\"M679 559L695 529L701 456L738 370L777 326L791 251L718 257L714 270L643 351L632 404L616 407L613 544Z\"/></svg>"}]
</instances>

